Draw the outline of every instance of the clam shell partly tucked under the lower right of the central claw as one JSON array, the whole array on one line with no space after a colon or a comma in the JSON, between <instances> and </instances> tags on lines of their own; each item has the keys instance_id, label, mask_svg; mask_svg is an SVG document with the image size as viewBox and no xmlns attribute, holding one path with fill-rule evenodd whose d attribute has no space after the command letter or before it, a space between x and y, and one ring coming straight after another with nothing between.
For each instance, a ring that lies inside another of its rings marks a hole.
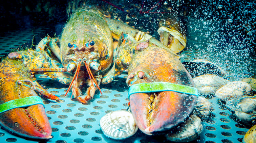
<instances>
[{"instance_id":1,"label":"clam shell partly tucked under the lower right of the central claw","mask_svg":"<svg viewBox=\"0 0 256 143\"><path fill-rule=\"evenodd\" d=\"M166 138L173 142L190 142L198 138L203 131L201 119L195 115L191 115L181 127L175 128L175 132L168 133Z\"/></svg>"}]
</instances>

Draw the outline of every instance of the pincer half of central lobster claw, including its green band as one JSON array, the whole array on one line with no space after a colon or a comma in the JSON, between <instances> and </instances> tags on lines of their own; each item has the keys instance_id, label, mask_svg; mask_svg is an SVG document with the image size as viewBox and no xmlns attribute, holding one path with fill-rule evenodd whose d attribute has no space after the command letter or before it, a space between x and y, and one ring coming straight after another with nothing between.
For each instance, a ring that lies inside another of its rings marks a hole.
<instances>
[{"instance_id":1,"label":"pincer half of central lobster claw, including its green band","mask_svg":"<svg viewBox=\"0 0 256 143\"><path fill-rule=\"evenodd\" d=\"M188 95L191 91L195 94ZM189 117L196 94L193 87L168 82L135 84L129 89L132 114L139 129L147 135L170 129Z\"/></svg>"}]
</instances>

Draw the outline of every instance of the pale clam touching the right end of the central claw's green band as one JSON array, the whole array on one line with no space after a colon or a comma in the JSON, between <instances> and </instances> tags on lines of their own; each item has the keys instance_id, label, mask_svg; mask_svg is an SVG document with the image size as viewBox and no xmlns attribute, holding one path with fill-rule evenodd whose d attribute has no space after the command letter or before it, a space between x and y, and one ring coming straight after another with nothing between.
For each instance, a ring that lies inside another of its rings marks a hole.
<instances>
[{"instance_id":1,"label":"pale clam touching the right end of the central claw's green band","mask_svg":"<svg viewBox=\"0 0 256 143\"><path fill-rule=\"evenodd\" d=\"M193 80L201 95L214 94L217 89L229 82L220 76L212 74L201 75L193 78Z\"/></svg>"}]
</instances>

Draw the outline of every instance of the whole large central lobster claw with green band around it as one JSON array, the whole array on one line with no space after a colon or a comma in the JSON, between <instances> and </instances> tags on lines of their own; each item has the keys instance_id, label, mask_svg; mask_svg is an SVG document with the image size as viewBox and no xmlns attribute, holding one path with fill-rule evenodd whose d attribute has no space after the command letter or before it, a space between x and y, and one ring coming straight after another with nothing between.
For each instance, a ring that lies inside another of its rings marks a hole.
<instances>
[{"instance_id":1,"label":"whole large central lobster claw with green band around it","mask_svg":"<svg viewBox=\"0 0 256 143\"><path fill-rule=\"evenodd\" d=\"M126 83L135 122L148 135L183 122L197 101L193 79L181 61L154 45L134 56Z\"/></svg>"}]
</instances>

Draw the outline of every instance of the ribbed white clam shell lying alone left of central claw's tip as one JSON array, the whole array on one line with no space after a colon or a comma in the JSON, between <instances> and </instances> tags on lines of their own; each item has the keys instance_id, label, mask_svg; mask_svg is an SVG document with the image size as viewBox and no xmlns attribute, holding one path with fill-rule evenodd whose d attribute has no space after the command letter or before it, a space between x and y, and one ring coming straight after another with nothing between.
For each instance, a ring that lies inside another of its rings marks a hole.
<instances>
[{"instance_id":1,"label":"ribbed white clam shell lying alone left of central claw's tip","mask_svg":"<svg viewBox=\"0 0 256 143\"><path fill-rule=\"evenodd\" d=\"M104 135L113 139L125 139L138 130L132 113L124 110L107 113L100 119L99 125Z\"/></svg>"}]
</instances>

